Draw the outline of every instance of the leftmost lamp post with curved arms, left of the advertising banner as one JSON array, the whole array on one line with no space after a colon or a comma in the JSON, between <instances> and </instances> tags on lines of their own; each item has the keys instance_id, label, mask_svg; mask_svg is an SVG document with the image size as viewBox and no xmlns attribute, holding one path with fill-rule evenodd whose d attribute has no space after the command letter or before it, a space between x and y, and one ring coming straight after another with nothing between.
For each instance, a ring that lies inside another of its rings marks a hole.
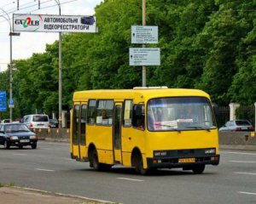
<instances>
[{"instance_id":1,"label":"leftmost lamp post with curved arms, left of the advertising banner","mask_svg":"<svg viewBox=\"0 0 256 204\"><path fill-rule=\"evenodd\" d=\"M9 18L9 14L0 8L4 14L7 15L0 15L3 19L7 20L9 23L9 119L13 119L13 106L10 105L13 101L13 36L20 36L20 32L13 32L11 26L11 20Z\"/></svg>"}]
</instances>

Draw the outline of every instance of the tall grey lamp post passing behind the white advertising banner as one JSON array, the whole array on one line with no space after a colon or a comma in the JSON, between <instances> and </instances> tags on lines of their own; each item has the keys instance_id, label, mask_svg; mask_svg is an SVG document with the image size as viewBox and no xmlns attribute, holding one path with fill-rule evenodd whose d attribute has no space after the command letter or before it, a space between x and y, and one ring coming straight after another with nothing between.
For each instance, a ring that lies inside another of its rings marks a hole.
<instances>
[{"instance_id":1,"label":"tall grey lamp post passing behind the white advertising banner","mask_svg":"<svg viewBox=\"0 0 256 204\"><path fill-rule=\"evenodd\" d=\"M55 3L58 4L59 14L61 15L61 3L60 0L55 0ZM62 64L61 64L61 32L59 32L59 128L62 127Z\"/></svg>"}]
</instances>

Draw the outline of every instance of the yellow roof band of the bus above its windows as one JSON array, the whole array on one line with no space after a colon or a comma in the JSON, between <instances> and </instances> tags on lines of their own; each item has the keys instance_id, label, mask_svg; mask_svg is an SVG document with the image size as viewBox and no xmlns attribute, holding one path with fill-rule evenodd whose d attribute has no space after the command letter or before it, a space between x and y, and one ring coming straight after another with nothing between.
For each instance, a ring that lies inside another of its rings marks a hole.
<instances>
[{"instance_id":1,"label":"yellow roof band of the bus above its windows","mask_svg":"<svg viewBox=\"0 0 256 204\"><path fill-rule=\"evenodd\" d=\"M201 96L210 99L209 95L198 89L185 88L136 88L136 89L97 89L79 91L73 94L73 101L88 99L134 99L135 102L162 97Z\"/></svg>"}]
</instances>

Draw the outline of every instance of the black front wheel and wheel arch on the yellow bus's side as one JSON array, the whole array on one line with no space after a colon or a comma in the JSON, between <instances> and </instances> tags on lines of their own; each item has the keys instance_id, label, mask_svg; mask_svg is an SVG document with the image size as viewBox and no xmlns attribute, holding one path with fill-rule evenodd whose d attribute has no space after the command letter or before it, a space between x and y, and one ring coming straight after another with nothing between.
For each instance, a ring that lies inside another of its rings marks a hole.
<instances>
[{"instance_id":1,"label":"black front wheel and wheel arch on the yellow bus's side","mask_svg":"<svg viewBox=\"0 0 256 204\"><path fill-rule=\"evenodd\" d=\"M137 173L143 175L148 173L148 169L143 168L143 155L137 147L131 153L131 167L135 167Z\"/></svg>"}]
</instances>

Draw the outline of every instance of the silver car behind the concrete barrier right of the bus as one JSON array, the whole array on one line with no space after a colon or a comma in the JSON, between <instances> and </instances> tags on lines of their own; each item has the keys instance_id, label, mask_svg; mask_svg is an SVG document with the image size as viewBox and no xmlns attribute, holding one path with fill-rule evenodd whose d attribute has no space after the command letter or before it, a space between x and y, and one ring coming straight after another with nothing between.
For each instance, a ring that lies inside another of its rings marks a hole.
<instances>
[{"instance_id":1,"label":"silver car behind the concrete barrier right of the bus","mask_svg":"<svg viewBox=\"0 0 256 204\"><path fill-rule=\"evenodd\" d=\"M218 131L253 131L253 125L247 120L228 121Z\"/></svg>"}]
</instances>

